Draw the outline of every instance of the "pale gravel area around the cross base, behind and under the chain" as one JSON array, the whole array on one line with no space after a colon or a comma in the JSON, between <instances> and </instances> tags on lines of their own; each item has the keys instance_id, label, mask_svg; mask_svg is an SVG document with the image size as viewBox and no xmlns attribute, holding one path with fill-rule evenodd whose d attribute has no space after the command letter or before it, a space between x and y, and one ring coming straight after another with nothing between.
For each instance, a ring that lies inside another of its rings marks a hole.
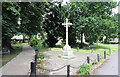
<instances>
[{"instance_id":1,"label":"pale gravel area around the cross base, behind and under the chain","mask_svg":"<svg viewBox=\"0 0 120 77\"><path fill-rule=\"evenodd\" d=\"M38 66L46 69L57 69L65 65L71 65L74 67L79 67L80 64L83 64L86 61L87 56L90 56L90 59L95 60L97 58L96 54L83 54L79 52L74 52L75 58L74 59L63 59L58 57L62 51L48 51L43 52L45 54L46 61L43 63L43 66ZM78 69L70 68L70 75L75 75ZM67 67L58 70L58 71L51 71L47 72L41 69L37 70L37 75L67 75Z\"/></svg>"}]
</instances>

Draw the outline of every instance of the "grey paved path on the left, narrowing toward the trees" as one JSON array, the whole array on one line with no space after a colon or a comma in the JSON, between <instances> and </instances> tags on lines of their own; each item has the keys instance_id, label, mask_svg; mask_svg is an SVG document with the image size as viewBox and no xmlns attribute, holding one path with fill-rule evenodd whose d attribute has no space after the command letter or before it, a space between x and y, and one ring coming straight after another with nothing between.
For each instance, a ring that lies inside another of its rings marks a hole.
<instances>
[{"instance_id":1,"label":"grey paved path on the left, narrowing toward the trees","mask_svg":"<svg viewBox=\"0 0 120 77\"><path fill-rule=\"evenodd\" d=\"M34 59L34 55L33 48L24 45L23 51L0 69L2 75L28 75L30 62Z\"/></svg>"}]
</instances>

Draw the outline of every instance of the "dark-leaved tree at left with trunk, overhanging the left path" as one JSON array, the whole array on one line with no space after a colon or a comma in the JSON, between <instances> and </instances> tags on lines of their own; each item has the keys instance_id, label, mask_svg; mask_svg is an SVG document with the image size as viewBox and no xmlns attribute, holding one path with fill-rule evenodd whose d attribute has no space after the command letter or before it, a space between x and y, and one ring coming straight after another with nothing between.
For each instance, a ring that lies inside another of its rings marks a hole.
<instances>
[{"instance_id":1,"label":"dark-leaved tree at left with trunk, overhanging the left path","mask_svg":"<svg viewBox=\"0 0 120 77\"><path fill-rule=\"evenodd\" d=\"M12 50L11 38L14 34L34 35L44 31L42 28L44 3L41 2L3 2L2 4L2 45ZM21 24L18 24L18 21Z\"/></svg>"}]
</instances>

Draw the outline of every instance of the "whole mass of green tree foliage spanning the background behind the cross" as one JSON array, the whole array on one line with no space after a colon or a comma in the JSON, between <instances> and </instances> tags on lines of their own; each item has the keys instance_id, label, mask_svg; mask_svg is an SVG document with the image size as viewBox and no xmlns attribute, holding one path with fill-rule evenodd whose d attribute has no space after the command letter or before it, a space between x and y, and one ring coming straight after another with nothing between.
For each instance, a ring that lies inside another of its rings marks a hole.
<instances>
[{"instance_id":1,"label":"whole mass of green tree foliage spanning the background behind the cross","mask_svg":"<svg viewBox=\"0 0 120 77\"><path fill-rule=\"evenodd\" d=\"M116 6L116 2L71 2L64 6L60 2L3 2L3 47L12 49L10 41L14 34L25 33L31 37L43 32L47 33L45 42L53 47L59 37L65 41L62 23L66 18L73 23L69 27L71 46L76 46L76 40L82 40L83 34L90 44L103 36L116 38L118 15L111 16Z\"/></svg>"}]
</instances>

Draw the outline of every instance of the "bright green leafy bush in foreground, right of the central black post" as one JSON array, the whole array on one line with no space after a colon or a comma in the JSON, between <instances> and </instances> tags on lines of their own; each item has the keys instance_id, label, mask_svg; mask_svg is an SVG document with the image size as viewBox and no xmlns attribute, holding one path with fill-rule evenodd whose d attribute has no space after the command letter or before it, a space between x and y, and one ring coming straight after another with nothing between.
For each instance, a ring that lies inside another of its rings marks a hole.
<instances>
[{"instance_id":1,"label":"bright green leafy bush in foreground, right of the central black post","mask_svg":"<svg viewBox=\"0 0 120 77\"><path fill-rule=\"evenodd\" d=\"M80 75L88 75L90 73L91 67L92 67L92 65L90 65L88 63L80 65L79 74Z\"/></svg>"}]
</instances>

